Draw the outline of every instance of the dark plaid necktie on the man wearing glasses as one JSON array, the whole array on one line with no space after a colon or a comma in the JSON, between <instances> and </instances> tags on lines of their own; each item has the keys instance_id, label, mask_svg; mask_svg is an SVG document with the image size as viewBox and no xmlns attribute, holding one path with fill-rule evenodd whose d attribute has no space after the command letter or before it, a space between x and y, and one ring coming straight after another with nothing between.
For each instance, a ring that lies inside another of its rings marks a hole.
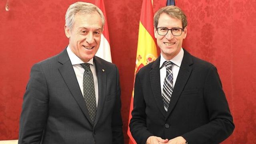
<instances>
[{"instance_id":1,"label":"dark plaid necktie on the man wearing glasses","mask_svg":"<svg viewBox=\"0 0 256 144\"><path fill-rule=\"evenodd\" d=\"M173 83L172 83L172 62L165 61L164 65L166 67L166 77L164 79L164 86L163 86L163 92L162 92L162 100L164 102L164 110L168 110L170 99L172 96L172 90L173 90Z\"/></svg>"}]
</instances>

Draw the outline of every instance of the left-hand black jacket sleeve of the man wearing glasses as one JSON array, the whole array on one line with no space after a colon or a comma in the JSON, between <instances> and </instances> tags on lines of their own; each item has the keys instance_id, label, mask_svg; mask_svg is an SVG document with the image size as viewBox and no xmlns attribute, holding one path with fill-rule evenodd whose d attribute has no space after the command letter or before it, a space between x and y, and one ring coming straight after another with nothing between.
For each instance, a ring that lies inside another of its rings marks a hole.
<instances>
[{"instance_id":1,"label":"left-hand black jacket sleeve of the man wearing glasses","mask_svg":"<svg viewBox=\"0 0 256 144\"><path fill-rule=\"evenodd\" d=\"M132 110L132 118L130 120L130 131L134 140L138 144L145 144L150 136L154 136L148 131L146 125L146 102L142 93L142 86L140 84L139 72L136 74L134 83L134 102Z\"/></svg>"}]
</instances>

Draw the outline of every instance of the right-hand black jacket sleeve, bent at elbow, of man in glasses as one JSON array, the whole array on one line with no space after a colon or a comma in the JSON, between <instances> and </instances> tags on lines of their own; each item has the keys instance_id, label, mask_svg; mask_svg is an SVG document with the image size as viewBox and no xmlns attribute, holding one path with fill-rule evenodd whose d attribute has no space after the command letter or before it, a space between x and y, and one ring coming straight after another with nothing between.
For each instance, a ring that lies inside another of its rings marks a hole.
<instances>
[{"instance_id":1,"label":"right-hand black jacket sleeve, bent at elbow, of man in glasses","mask_svg":"<svg viewBox=\"0 0 256 144\"><path fill-rule=\"evenodd\" d=\"M233 118L215 66L210 68L206 76L204 101L209 123L182 135L188 144L220 143L234 130Z\"/></svg>"}]
</instances>

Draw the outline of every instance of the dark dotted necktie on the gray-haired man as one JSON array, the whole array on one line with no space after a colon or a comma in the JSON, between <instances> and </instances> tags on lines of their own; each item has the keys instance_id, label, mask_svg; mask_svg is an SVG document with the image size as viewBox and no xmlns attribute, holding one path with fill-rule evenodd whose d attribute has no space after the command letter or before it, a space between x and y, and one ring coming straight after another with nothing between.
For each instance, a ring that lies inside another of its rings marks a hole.
<instances>
[{"instance_id":1,"label":"dark dotted necktie on the gray-haired man","mask_svg":"<svg viewBox=\"0 0 256 144\"><path fill-rule=\"evenodd\" d=\"M84 68L84 78L83 78L84 101L86 103L86 107L89 112L90 119L94 124L97 108L96 108L96 97L95 97L93 75L90 69L90 64L84 63L81 65Z\"/></svg>"}]
</instances>

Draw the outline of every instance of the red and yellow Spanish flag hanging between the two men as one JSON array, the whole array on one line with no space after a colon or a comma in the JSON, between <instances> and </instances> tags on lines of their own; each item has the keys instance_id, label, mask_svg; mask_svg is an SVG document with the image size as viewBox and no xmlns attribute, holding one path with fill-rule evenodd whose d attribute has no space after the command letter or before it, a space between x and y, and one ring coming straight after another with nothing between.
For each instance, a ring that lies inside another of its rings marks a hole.
<instances>
[{"instance_id":1,"label":"red and yellow Spanish flag hanging between the two men","mask_svg":"<svg viewBox=\"0 0 256 144\"><path fill-rule=\"evenodd\" d=\"M153 62L157 58L156 39L154 38L153 17L154 17L154 13L153 13L152 1L143 0L141 14L140 14L139 36L138 36L138 47L137 47L137 55L136 55L134 80L135 80L135 75L140 70L140 68L149 64L150 62ZM132 118L131 112L133 110L133 96L134 96L134 90L132 91L128 124L130 123L130 120ZM127 134L130 138L129 144L136 144L130 132L129 126L128 126Z\"/></svg>"}]
</instances>

